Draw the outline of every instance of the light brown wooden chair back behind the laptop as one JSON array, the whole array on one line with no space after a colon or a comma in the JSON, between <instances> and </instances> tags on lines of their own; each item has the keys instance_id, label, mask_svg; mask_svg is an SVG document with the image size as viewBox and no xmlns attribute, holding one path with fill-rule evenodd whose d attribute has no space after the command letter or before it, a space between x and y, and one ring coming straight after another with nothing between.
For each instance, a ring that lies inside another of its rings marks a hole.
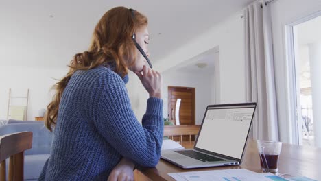
<instances>
[{"instance_id":1,"label":"light brown wooden chair back behind the laptop","mask_svg":"<svg viewBox=\"0 0 321 181\"><path fill-rule=\"evenodd\" d=\"M191 142L192 135L198 135L200 131L200 125L166 125L164 126L164 136L180 136L180 142L182 142L182 136L189 136L189 142Z\"/></svg>"}]
</instances>

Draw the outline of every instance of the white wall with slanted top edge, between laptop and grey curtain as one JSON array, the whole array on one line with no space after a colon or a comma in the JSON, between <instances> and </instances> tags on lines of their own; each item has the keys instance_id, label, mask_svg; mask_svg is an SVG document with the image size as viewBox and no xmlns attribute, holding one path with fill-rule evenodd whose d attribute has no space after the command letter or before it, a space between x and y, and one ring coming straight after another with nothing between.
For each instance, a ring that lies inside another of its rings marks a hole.
<instances>
[{"instance_id":1,"label":"white wall with slanted top edge, between laptop and grey curtain","mask_svg":"<svg viewBox=\"0 0 321 181\"><path fill-rule=\"evenodd\" d=\"M234 14L159 60L155 69L166 71L195 55L219 46L220 102L245 101L243 30L241 13Z\"/></svg>"}]
</instances>

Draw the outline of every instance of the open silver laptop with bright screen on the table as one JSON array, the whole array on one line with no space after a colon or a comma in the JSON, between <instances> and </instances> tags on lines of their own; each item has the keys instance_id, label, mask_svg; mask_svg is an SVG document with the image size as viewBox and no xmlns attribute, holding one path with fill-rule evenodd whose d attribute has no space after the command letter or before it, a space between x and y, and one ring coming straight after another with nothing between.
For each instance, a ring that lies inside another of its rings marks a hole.
<instances>
[{"instance_id":1,"label":"open silver laptop with bright screen on the table","mask_svg":"<svg viewBox=\"0 0 321 181\"><path fill-rule=\"evenodd\" d=\"M239 165L256 103L209 105L193 149L169 149L160 158L183 169Z\"/></svg>"}]
</instances>

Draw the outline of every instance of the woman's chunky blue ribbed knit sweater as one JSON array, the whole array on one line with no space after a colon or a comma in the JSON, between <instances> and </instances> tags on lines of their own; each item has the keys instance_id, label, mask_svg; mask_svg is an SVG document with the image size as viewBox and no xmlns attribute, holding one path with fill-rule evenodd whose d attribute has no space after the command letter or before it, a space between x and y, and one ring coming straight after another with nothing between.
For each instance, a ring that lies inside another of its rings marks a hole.
<instances>
[{"instance_id":1,"label":"woman's chunky blue ribbed knit sweater","mask_svg":"<svg viewBox=\"0 0 321 181\"><path fill-rule=\"evenodd\" d=\"M163 101L151 97L142 125L123 79L106 67L76 71L64 89L51 154L39 180L104 180L122 157L156 166L163 140Z\"/></svg>"}]
</instances>

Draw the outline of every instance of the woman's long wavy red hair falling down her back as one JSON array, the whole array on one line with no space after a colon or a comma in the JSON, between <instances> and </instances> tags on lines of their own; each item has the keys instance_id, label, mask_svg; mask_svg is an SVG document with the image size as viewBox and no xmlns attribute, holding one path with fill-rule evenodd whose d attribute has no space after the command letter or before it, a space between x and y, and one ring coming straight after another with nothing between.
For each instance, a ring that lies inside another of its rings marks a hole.
<instances>
[{"instance_id":1,"label":"woman's long wavy red hair falling down her back","mask_svg":"<svg viewBox=\"0 0 321 181\"><path fill-rule=\"evenodd\" d=\"M75 54L69 64L67 75L53 86L56 94L47 106L45 115L45 126L50 131L56 125L60 99L73 73L107 63L115 67L113 71L121 77L125 76L128 73L128 67L136 61L137 51L132 35L146 25L146 16L125 7L112 8L102 16L93 32L88 51Z\"/></svg>"}]
</instances>

